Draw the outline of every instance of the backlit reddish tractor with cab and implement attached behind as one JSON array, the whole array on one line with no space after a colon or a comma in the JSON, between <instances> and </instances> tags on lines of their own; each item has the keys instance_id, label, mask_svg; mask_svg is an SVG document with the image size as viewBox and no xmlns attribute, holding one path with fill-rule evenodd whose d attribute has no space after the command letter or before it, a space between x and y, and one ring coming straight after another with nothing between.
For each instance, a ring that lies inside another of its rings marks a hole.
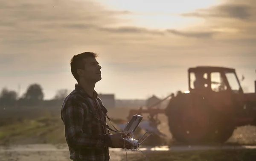
<instances>
[{"instance_id":1,"label":"backlit reddish tractor with cab and implement attached behind","mask_svg":"<svg viewBox=\"0 0 256 161\"><path fill-rule=\"evenodd\" d=\"M236 127L256 125L256 81L254 83L255 93L244 93L235 69L189 68L189 90L172 95L165 109L130 110L128 118L148 113L151 120L157 121L154 118L162 113L167 116L169 130L178 142L223 143ZM170 96L160 102L168 98Z\"/></svg>"}]
</instances>

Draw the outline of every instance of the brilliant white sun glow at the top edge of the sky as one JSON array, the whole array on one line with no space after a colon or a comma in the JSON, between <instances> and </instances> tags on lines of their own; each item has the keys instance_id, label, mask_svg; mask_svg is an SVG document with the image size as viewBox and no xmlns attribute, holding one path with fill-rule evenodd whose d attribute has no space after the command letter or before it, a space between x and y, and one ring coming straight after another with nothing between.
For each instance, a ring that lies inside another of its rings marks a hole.
<instances>
[{"instance_id":1,"label":"brilliant white sun glow at the top edge of the sky","mask_svg":"<svg viewBox=\"0 0 256 161\"><path fill-rule=\"evenodd\" d=\"M130 11L122 15L127 19L123 25L136 25L147 28L185 28L188 25L203 23L204 20L181 17L180 14L196 9L217 5L219 0L97 0L108 9Z\"/></svg>"}]
</instances>

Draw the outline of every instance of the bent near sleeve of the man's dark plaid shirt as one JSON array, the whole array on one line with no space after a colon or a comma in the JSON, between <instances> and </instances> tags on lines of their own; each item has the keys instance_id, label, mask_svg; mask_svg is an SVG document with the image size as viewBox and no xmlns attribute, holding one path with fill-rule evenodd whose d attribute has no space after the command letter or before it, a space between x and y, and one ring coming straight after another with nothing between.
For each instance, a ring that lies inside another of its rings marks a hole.
<instances>
[{"instance_id":1,"label":"bent near sleeve of the man's dark plaid shirt","mask_svg":"<svg viewBox=\"0 0 256 161\"><path fill-rule=\"evenodd\" d=\"M83 133L84 107L76 99L70 99L66 102L61 115L65 124L65 135L67 143L73 148L91 148L106 147L110 145L109 134L99 134L89 136Z\"/></svg>"}]
</instances>

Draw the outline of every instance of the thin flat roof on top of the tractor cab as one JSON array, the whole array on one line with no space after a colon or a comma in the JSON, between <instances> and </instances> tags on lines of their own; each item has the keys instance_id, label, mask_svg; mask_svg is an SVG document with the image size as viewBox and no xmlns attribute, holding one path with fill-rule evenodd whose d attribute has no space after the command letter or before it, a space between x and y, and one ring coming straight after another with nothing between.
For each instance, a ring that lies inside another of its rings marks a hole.
<instances>
[{"instance_id":1,"label":"thin flat roof on top of the tractor cab","mask_svg":"<svg viewBox=\"0 0 256 161\"><path fill-rule=\"evenodd\" d=\"M217 71L227 71L227 72L235 72L233 68L225 68L225 67L218 67L218 66L197 66L194 68L189 68L189 72L193 71L209 71L209 72L217 72Z\"/></svg>"}]
</instances>

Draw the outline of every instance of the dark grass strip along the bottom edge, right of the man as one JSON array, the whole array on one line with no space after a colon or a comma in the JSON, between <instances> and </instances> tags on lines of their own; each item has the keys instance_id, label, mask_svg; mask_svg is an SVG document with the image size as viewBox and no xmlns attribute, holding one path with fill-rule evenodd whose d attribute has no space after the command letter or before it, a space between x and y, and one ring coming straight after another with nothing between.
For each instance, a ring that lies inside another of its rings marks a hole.
<instances>
[{"instance_id":1,"label":"dark grass strip along the bottom edge, right of the man","mask_svg":"<svg viewBox=\"0 0 256 161\"><path fill-rule=\"evenodd\" d=\"M256 150L211 150L189 152L144 153L148 161L255 161ZM129 155L129 161L146 161L140 152ZM125 158L123 158L125 160Z\"/></svg>"}]
</instances>

